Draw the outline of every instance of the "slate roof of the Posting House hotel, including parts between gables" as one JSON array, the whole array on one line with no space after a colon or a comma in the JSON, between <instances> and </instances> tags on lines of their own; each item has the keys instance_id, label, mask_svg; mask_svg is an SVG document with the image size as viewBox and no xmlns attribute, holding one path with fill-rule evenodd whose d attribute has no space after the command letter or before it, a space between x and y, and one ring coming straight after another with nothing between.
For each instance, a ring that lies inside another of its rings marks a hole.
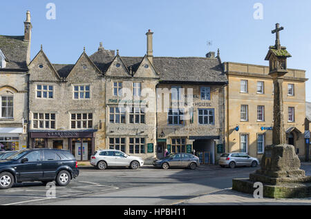
<instances>
[{"instance_id":1,"label":"slate roof of the Posting House hotel, including parts between gables","mask_svg":"<svg viewBox=\"0 0 311 219\"><path fill-rule=\"evenodd\" d=\"M97 67L105 73L114 56L98 50L90 56ZM144 57L121 56L128 69L138 70ZM153 65L160 74L161 81L227 83L227 76L217 58L202 57L153 57Z\"/></svg>"}]
</instances>

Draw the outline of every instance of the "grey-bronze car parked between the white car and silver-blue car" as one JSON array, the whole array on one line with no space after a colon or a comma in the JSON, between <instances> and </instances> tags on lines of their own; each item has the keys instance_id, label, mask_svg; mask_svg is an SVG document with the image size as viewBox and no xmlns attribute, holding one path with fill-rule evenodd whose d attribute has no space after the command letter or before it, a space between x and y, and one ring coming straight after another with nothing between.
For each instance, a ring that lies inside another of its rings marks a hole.
<instances>
[{"instance_id":1,"label":"grey-bronze car parked between the white car and silver-blue car","mask_svg":"<svg viewBox=\"0 0 311 219\"><path fill-rule=\"evenodd\" d=\"M169 167L187 167L189 169L196 169L200 165L199 158L193 154L178 153L169 154L162 160L154 160L153 166L161 167L162 169L169 169Z\"/></svg>"}]
</instances>

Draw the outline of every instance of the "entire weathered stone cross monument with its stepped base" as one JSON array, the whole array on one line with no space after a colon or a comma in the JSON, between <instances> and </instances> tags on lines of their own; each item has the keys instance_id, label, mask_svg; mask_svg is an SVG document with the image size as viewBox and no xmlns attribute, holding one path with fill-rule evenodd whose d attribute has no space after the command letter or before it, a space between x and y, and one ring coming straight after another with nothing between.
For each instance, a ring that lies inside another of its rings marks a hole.
<instances>
[{"instance_id":1,"label":"entire weathered stone cross monument with its stepped base","mask_svg":"<svg viewBox=\"0 0 311 219\"><path fill-rule=\"evenodd\" d=\"M254 183L263 183L263 196L270 198L294 198L311 196L311 176L300 169L300 160L293 145L286 144L283 116L283 76L288 72L287 58L291 57L281 46L279 32L284 30L276 23L274 46L270 46L265 60L269 61L274 84L272 145L265 147L261 169L249 174L249 179L233 179L232 189L252 193Z\"/></svg>"}]
</instances>

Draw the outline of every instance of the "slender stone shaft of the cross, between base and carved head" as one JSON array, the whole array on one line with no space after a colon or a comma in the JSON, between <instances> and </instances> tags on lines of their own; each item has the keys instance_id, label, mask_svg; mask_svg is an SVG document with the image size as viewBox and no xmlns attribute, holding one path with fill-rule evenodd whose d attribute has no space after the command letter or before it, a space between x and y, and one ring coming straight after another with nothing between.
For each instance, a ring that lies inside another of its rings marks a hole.
<instances>
[{"instance_id":1,"label":"slender stone shaft of the cross, between base and carved head","mask_svg":"<svg viewBox=\"0 0 311 219\"><path fill-rule=\"evenodd\" d=\"M272 144L283 145L286 143L284 129L284 111L283 111L283 78L275 77L274 83L274 105L273 105L273 132Z\"/></svg>"}]
</instances>

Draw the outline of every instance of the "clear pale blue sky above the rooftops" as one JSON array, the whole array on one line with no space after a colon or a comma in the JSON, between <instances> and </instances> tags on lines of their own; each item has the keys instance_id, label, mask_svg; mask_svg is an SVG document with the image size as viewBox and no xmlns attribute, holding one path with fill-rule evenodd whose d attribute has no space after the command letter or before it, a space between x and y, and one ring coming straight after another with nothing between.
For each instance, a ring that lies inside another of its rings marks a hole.
<instances>
[{"instance_id":1,"label":"clear pale blue sky above the rooftops","mask_svg":"<svg viewBox=\"0 0 311 219\"><path fill-rule=\"evenodd\" d=\"M288 67L311 79L310 0L12 0L1 2L0 34L23 35L27 10L31 57L42 44L52 63L64 64L76 63L84 47L93 54L100 42L121 56L144 56L151 29L154 56L204 57L219 48L222 61L268 65L271 30L280 23L281 45L292 54ZM305 87L311 102L311 80Z\"/></svg>"}]
</instances>

